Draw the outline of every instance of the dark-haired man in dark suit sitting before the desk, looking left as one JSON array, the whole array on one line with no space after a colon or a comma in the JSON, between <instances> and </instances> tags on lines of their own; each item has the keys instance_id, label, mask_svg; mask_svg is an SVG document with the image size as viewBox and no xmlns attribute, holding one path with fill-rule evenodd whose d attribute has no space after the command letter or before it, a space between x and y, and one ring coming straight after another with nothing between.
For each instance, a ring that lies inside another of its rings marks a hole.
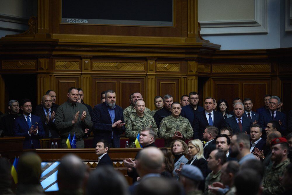
<instances>
[{"instance_id":1,"label":"dark-haired man in dark suit sitting before the desk, looking left","mask_svg":"<svg viewBox=\"0 0 292 195\"><path fill-rule=\"evenodd\" d=\"M98 155L98 164L97 166L102 166L102 165L108 165L112 166L112 160L109 158L109 155L107 152L109 151L109 143L104 140L98 140L96 147L95 147L95 153Z\"/></svg>"}]
</instances>

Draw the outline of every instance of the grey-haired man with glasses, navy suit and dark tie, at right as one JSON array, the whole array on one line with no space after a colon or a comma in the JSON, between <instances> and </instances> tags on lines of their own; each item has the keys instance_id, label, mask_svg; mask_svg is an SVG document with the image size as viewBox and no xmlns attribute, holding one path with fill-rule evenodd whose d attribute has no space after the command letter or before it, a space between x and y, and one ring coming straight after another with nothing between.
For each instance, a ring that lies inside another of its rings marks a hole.
<instances>
[{"instance_id":1,"label":"grey-haired man with glasses, navy suit and dark tie, at right","mask_svg":"<svg viewBox=\"0 0 292 195\"><path fill-rule=\"evenodd\" d=\"M277 111L279 102L280 99L278 96L271 96L269 100L269 110L260 114L258 124L260 127L265 129L268 122L271 120L277 120L281 125L281 128L278 131L282 134L282 136L285 136L287 134L287 119L284 113ZM266 138L265 132L263 133L262 137Z\"/></svg>"}]
</instances>

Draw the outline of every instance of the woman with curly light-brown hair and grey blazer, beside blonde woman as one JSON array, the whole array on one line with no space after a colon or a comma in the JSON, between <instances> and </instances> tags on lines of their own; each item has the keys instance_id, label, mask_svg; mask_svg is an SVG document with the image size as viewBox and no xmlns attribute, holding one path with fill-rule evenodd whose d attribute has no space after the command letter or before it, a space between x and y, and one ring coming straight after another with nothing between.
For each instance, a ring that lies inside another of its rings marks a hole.
<instances>
[{"instance_id":1,"label":"woman with curly light-brown hair and grey blazer, beside blonde woman","mask_svg":"<svg viewBox=\"0 0 292 195\"><path fill-rule=\"evenodd\" d=\"M178 174L175 172L175 169L180 168L180 163L186 164L189 161L186 157L188 157L188 149L187 144L180 139L173 140L170 144L171 152L174 156L174 169L172 175L174 178L178 179Z\"/></svg>"}]
</instances>

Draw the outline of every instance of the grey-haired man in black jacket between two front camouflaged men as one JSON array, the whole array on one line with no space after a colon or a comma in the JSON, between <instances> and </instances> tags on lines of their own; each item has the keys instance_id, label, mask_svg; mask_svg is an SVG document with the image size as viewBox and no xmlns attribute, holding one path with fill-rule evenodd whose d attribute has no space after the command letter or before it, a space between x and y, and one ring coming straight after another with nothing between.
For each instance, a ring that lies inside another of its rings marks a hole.
<instances>
[{"instance_id":1,"label":"grey-haired man in black jacket between two front camouflaged men","mask_svg":"<svg viewBox=\"0 0 292 195\"><path fill-rule=\"evenodd\" d=\"M173 97L170 94L164 95L163 103L164 107L157 111L153 116L157 127L159 127L160 122L164 117L171 115L171 104L173 103Z\"/></svg>"}]
</instances>

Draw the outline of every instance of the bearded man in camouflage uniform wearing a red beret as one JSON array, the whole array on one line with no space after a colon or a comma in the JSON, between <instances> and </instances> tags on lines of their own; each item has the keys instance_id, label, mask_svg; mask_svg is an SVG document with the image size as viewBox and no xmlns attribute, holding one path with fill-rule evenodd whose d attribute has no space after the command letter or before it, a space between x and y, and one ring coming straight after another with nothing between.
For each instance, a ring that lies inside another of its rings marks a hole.
<instances>
[{"instance_id":1,"label":"bearded man in camouflage uniform wearing a red beret","mask_svg":"<svg viewBox=\"0 0 292 195\"><path fill-rule=\"evenodd\" d=\"M275 138L271 142L272 156L270 165L265 170L263 177L263 194L282 194L284 187L280 178L284 175L287 165L290 163L287 158L288 142L284 137Z\"/></svg>"}]
</instances>

